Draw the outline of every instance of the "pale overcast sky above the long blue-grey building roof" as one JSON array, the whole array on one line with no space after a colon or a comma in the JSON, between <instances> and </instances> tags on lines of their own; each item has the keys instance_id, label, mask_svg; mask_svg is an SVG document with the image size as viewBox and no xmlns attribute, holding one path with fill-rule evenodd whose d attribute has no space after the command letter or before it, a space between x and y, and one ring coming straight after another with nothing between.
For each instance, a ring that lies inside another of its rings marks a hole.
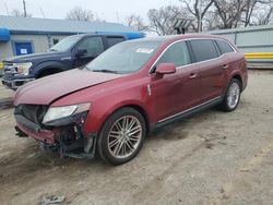
<instances>
[{"instance_id":1,"label":"pale overcast sky above the long blue-grey building roof","mask_svg":"<svg viewBox=\"0 0 273 205\"><path fill-rule=\"evenodd\" d=\"M81 7L93 11L107 22L123 23L126 16L139 14L146 21L150 9L163 5L179 5L179 0L25 0L27 13L33 17L64 19L70 9ZM0 15L7 15L13 9L23 12L23 0L0 0Z\"/></svg>"}]
</instances>

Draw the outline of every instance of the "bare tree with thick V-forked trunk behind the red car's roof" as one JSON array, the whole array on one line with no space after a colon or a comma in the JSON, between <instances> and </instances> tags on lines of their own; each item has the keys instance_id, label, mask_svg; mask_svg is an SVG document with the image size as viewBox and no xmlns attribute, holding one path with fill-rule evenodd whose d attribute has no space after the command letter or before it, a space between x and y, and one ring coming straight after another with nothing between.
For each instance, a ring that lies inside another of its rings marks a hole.
<instances>
[{"instance_id":1,"label":"bare tree with thick V-forked trunk behind the red car's roof","mask_svg":"<svg viewBox=\"0 0 273 205\"><path fill-rule=\"evenodd\" d=\"M203 19L209 9L212 7L213 1L212 0L179 0L179 1L182 2L186 5L188 12L195 17L197 24L195 25L193 24L194 31L202 32Z\"/></svg>"}]
</instances>

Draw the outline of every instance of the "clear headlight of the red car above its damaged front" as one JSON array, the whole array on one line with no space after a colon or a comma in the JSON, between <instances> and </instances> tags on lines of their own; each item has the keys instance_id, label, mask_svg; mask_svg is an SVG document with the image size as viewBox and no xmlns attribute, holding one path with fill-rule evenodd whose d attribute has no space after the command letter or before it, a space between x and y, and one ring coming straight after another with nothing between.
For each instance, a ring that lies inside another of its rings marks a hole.
<instances>
[{"instance_id":1,"label":"clear headlight of the red car above its damaged front","mask_svg":"<svg viewBox=\"0 0 273 205\"><path fill-rule=\"evenodd\" d=\"M61 118L74 116L90 110L90 102L73 105L73 106L63 106L63 107L51 107L48 109L47 113L44 117L43 123L47 123L54 120Z\"/></svg>"}]
</instances>

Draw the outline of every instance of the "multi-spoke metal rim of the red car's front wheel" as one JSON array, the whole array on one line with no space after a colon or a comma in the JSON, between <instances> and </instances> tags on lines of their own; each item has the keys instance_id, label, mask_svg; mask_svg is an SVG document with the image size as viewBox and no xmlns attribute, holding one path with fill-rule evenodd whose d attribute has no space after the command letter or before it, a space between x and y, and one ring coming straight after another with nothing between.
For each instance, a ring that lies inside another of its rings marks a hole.
<instances>
[{"instance_id":1,"label":"multi-spoke metal rim of the red car's front wheel","mask_svg":"<svg viewBox=\"0 0 273 205\"><path fill-rule=\"evenodd\" d=\"M108 150L116 158L131 156L140 145L142 126L138 118L123 116L111 126L108 133Z\"/></svg>"}]
</instances>

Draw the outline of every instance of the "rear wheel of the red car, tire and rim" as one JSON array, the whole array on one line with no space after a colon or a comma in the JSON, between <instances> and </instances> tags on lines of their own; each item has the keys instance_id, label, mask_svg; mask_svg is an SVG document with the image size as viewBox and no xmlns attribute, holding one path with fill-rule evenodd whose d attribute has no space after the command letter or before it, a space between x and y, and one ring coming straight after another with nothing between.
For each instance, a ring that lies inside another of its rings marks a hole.
<instances>
[{"instance_id":1,"label":"rear wheel of the red car, tire and rim","mask_svg":"<svg viewBox=\"0 0 273 205\"><path fill-rule=\"evenodd\" d=\"M224 111L234 111L239 101L241 94L241 83L237 79L233 79L227 87L221 109Z\"/></svg>"}]
</instances>

